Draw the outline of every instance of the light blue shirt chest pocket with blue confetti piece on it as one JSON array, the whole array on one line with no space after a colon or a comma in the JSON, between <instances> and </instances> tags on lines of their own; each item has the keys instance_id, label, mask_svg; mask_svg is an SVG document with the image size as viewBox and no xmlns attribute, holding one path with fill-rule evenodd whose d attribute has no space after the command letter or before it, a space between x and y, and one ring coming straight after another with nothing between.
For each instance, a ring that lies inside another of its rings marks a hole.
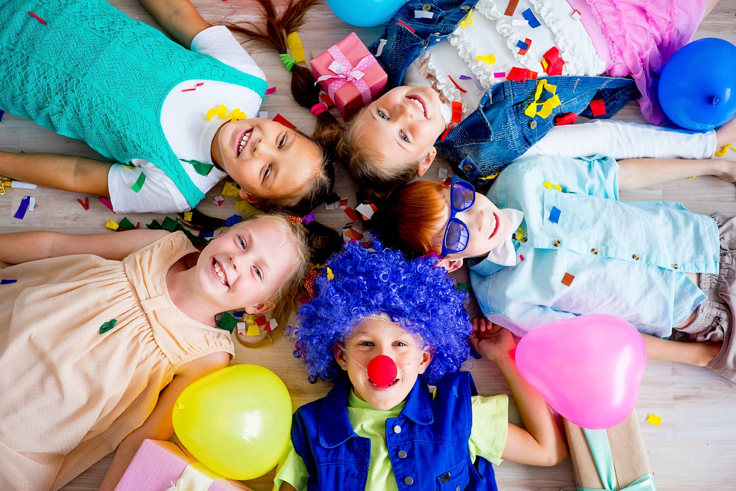
<instances>
[{"instance_id":1,"label":"light blue shirt chest pocket with blue confetti piece on it","mask_svg":"<svg viewBox=\"0 0 736 491\"><path fill-rule=\"evenodd\" d=\"M600 213L600 198L556 189L545 189L542 199L542 223L565 230L587 230L598 219L609 219Z\"/></svg>"}]
</instances>

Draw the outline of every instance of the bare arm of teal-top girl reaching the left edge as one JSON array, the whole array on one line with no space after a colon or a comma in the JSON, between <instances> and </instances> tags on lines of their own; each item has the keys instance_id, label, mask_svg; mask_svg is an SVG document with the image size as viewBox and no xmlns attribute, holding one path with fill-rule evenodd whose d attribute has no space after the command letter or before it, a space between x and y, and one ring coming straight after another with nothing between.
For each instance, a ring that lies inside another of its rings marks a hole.
<instances>
[{"instance_id":1,"label":"bare arm of teal-top girl reaching the left edge","mask_svg":"<svg viewBox=\"0 0 736 491\"><path fill-rule=\"evenodd\" d=\"M111 163L53 153L0 152L0 175L46 188L110 197Z\"/></svg>"}]
</instances>

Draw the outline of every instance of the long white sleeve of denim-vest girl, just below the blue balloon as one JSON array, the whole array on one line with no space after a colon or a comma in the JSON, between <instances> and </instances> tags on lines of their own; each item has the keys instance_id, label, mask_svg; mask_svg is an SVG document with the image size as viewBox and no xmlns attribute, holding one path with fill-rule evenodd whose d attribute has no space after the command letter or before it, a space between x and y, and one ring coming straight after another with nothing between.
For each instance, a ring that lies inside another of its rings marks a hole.
<instances>
[{"instance_id":1,"label":"long white sleeve of denim-vest girl, just below the blue balloon","mask_svg":"<svg viewBox=\"0 0 736 491\"><path fill-rule=\"evenodd\" d=\"M553 127L522 157L559 155L624 158L712 158L715 131L693 133L651 124L595 119L581 124Z\"/></svg>"}]
</instances>

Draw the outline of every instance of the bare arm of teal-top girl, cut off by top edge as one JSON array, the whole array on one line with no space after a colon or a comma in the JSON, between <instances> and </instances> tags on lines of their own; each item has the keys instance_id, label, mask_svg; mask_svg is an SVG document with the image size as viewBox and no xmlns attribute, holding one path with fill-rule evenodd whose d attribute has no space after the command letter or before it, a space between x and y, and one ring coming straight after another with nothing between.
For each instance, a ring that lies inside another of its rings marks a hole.
<instances>
[{"instance_id":1,"label":"bare arm of teal-top girl, cut off by top edge","mask_svg":"<svg viewBox=\"0 0 736 491\"><path fill-rule=\"evenodd\" d=\"M141 0L141 4L171 37L187 49L191 48L194 36L212 27L189 0Z\"/></svg>"}]
</instances>

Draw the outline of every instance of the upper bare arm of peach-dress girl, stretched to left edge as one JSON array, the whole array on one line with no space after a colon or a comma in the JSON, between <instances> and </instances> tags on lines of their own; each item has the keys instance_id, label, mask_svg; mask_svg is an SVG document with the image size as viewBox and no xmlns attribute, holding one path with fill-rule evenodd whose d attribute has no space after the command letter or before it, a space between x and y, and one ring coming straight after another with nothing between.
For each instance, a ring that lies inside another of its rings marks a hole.
<instances>
[{"instance_id":1,"label":"upper bare arm of peach-dress girl, stretched to left edge","mask_svg":"<svg viewBox=\"0 0 736 491\"><path fill-rule=\"evenodd\" d=\"M96 234L40 231L4 233L0 235L0 261L21 264L74 254L94 254L121 261L168 233L166 230L126 230Z\"/></svg>"}]
</instances>

